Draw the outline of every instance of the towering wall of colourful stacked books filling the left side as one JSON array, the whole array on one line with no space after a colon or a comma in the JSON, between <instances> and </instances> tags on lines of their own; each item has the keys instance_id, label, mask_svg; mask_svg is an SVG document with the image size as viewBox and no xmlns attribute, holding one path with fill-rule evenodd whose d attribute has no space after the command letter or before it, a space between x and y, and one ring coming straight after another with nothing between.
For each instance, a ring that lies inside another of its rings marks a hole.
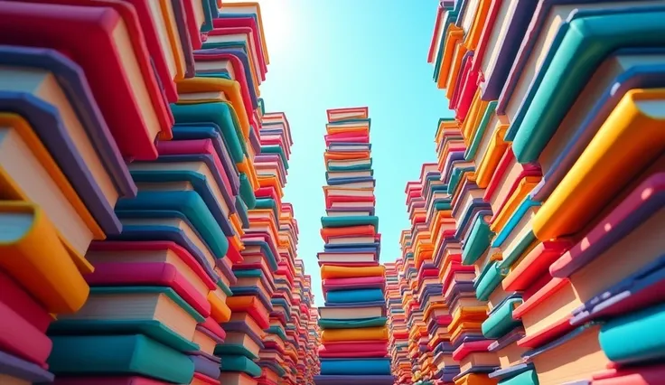
<instances>
[{"instance_id":1,"label":"towering wall of colourful stacked books filling the left side","mask_svg":"<svg viewBox=\"0 0 665 385\"><path fill-rule=\"evenodd\" d=\"M260 8L152 3L0 2L0 382L312 384Z\"/></svg>"}]
</instances>

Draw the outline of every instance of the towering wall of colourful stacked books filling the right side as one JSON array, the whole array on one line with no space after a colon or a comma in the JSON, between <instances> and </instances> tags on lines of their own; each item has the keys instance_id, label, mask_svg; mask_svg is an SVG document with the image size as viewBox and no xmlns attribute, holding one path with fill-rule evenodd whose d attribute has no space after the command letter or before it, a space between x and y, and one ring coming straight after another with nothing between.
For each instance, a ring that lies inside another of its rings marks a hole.
<instances>
[{"instance_id":1,"label":"towering wall of colourful stacked books filling the right side","mask_svg":"<svg viewBox=\"0 0 665 385\"><path fill-rule=\"evenodd\" d=\"M663 15L659 1L440 5L429 61L454 110L436 141L457 242L442 252L475 269L463 324L484 336L473 362L453 358L489 372L455 383L661 382Z\"/></svg>"}]
</instances>

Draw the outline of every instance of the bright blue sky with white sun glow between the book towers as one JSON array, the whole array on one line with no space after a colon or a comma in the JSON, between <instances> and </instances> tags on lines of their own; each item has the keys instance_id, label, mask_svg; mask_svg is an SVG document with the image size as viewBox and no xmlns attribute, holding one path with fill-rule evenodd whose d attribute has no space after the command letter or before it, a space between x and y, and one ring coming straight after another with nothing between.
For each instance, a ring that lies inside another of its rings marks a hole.
<instances>
[{"instance_id":1,"label":"bright blue sky with white sun glow between the book towers","mask_svg":"<svg viewBox=\"0 0 665 385\"><path fill-rule=\"evenodd\" d=\"M291 125L285 202L294 205L298 256L312 276L316 305L323 305L316 253L323 250L325 110L370 108L381 261L395 260L408 226L406 183L436 160L437 121L451 116L426 62L438 2L259 3L270 55L261 96L267 111L284 111Z\"/></svg>"}]
</instances>

